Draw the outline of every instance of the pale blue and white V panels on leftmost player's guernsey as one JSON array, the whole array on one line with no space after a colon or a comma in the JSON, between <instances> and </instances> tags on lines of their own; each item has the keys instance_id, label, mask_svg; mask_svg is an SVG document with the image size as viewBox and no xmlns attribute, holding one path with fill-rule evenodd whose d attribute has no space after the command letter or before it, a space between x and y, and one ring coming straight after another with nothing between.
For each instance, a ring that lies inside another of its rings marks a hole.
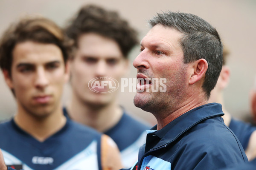
<instances>
[{"instance_id":1,"label":"pale blue and white V panels on leftmost player's guernsey","mask_svg":"<svg viewBox=\"0 0 256 170\"><path fill-rule=\"evenodd\" d=\"M6 164L22 164L22 162L12 154L6 152L5 150L2 150L2 152ZM84 167L86 167L88 170L99 170L96 140L91 142L88 147L54 170L84 170ZM33 169L28 167L26 164L23 164L23 170Z\"/></svg>"}]
</instances>

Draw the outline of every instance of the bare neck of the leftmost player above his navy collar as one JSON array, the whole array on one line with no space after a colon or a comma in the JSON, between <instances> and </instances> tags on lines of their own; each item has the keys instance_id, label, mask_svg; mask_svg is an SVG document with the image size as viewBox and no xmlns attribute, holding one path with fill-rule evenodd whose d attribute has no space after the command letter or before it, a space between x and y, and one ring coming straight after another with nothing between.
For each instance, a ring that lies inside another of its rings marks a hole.
<instances>
[{"instance_id":1,"label":"bare neck of the leftmost player above his navy collar","mask_svg":"<svg viewBox=\"0 0 256 170\"><path fill-rule=\"evenodd\" d=\"M27 113L24 109L18 107L14 121L22 130L29 133L40 142L44 142L47 138L58 132L67 122L62 112L61 106L45 117L36 117Z\"/></svg>"}]
</instances>

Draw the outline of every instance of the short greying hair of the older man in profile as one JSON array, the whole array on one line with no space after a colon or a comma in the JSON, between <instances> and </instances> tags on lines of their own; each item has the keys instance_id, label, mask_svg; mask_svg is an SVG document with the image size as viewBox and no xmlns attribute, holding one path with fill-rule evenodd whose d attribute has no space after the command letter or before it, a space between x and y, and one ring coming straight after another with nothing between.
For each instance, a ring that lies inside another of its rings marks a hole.
<instances>
[{"instance_id":1,"label":"short greying hair of the older man in profile","mask_svg":"<svg viewBox=\"0 0 256 170\"><path fill-rule=\"evenodd\" d=\"M157 24L173 28L183 34L180 44L183 48L184 63L206 59L208 69L202 88L209 99L222 68L223 45L215 28L194 14L163 12L148 20L151 27Z\"/></svg>"}]
</instances>

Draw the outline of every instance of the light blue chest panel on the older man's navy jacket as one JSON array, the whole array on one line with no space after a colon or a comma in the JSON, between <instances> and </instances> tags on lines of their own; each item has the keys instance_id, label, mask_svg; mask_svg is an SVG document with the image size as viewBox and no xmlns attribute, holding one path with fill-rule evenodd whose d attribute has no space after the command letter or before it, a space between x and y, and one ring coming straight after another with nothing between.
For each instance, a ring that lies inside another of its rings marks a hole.
<instances>
[{"instance_id":1,"label":"light blue chest panel on the older man's navy jacket","mask_svg":"<svg viewBox=\"0 0 256 170\"><path fill-rule=\"evenodd\" d=\"M149 155L143 159L140 170L171 170L171 162Z\"/></svg>"}]
</instances>

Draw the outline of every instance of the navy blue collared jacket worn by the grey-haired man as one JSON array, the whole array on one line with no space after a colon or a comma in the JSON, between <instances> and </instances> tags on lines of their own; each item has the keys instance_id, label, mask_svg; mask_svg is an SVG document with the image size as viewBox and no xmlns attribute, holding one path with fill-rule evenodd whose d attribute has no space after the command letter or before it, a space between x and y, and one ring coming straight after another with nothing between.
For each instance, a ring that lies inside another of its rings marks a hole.
<instances>
[{"instance_id":1,"label":"navy blue collared jacket worn by the grey-haired man","mask_svg":"<svg viewBox=\"0 0 256 170\"><path fill-rule=\"evenodd\" d=\"M131 170L218 170L247 162L222 115L221 105L210 103L184 113L161 130L154 126Z\"/></svg>"}]
</instances>

